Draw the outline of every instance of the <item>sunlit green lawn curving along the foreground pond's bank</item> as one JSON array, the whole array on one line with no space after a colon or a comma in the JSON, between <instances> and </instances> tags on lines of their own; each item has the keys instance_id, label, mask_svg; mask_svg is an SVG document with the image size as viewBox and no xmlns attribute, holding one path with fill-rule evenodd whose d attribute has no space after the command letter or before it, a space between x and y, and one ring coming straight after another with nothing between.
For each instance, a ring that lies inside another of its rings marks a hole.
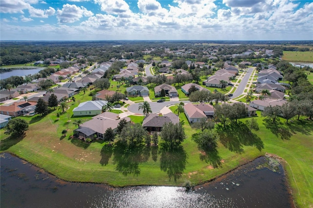
<instances>
[{"instance_id":1,"label":"sunlit green lawn curving along the foreground pond's bank","mask_svg":"<svg viewBox=\"0 0 313 208\"><path fill-rule=\"evenodd\" d=\"M80 102L91 100L82 92L75 98ZM68 112L77 105L78 102L70 102ZM170 109L174 111L176 107ZM185 180L199 184L268 152L286 161L285 169L297 206L310 207L313 204L312 121L301 118L287 125L284 119L280 119L280 123L272 125L263 121L258 112L256 119L260 130L248 135L241 130L244 127L241 123L238 126L227 124L226 130L217 125L221 135L218 153L201 160L203 157L191 139L196 130L190 127L183 113L179 114L187 136L182 143L183 148L172 154L162 154L158 146L142 146L134 152L124 152L118 148L118 143L107 146L102 140L86 144L71 139L76 128L72 122L77 118L65 112L57 120L56 112L53 110L45 117L21 117L30 123L26 136L21 138L10 138L1 129L1 151L13 153L64 180L113 186L181 186ZM90 118L83 117L82 120ZM135 123L143 120L138 116L130 118ZM64 129L68 129L67 136L61 133ZM176 159L177 154L179 159Z\"/></svg>"}]
</instances>

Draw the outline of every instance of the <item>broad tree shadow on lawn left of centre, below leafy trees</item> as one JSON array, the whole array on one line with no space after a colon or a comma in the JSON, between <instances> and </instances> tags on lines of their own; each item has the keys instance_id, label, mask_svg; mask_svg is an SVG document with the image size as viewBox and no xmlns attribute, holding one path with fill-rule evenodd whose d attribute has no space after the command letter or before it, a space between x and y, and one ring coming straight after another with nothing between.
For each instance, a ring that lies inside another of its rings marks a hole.
<instances>
[{"instance_id":1,"label":"broad tree shadow on lawn left of centre, below leafy trees","mask_svg":"<svg viewBox=\"0 0 313 208\"><path fill-rule=\"evenodd\" d=\"M147 148L144 144L127 144L123 141L116 142L113 150L113 164L116 165L115 170L125 176L128 174L138 176L140 174L139 164L147 162L150 156L150 149Z\"/></svg>"}]
</instances>

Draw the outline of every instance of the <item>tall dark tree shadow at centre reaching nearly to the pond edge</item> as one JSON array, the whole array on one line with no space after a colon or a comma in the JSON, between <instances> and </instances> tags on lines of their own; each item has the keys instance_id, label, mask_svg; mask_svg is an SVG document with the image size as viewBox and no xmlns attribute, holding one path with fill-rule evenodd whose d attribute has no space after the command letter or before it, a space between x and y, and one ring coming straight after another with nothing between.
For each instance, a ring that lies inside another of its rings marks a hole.
<instances>
[{"instance_id":1,"label":"tall dark tree shadow at centre reaching nearly to the pond edge","mask_svg":"<svg viewBox=\"0 0 313 208\"><path fill-rule=\"evenodd\" d=\"M187 153L181 145L169 148L165 144L160 147L160 168L166 172L169 179L176 182L186 168Z\"/></svg>"}]
</instances>

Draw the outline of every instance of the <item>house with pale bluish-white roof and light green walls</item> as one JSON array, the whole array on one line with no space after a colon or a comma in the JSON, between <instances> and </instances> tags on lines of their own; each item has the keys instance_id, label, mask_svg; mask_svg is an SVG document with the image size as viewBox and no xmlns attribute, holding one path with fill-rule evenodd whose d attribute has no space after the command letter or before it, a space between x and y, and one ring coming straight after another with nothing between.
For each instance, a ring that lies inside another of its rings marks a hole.
<instances>
[{"instance_id":1,"label":"house with pale bluish-white roof and light green walls","mask_svg":"<svg viewBox=\"0 0 313 208\"><path fill-rule=\"evenodd\" d=\"M73 116L94 116L102 113L102 107L107 101L87 101L80 103L73 109Z\"/></svg>"}]
</instances>

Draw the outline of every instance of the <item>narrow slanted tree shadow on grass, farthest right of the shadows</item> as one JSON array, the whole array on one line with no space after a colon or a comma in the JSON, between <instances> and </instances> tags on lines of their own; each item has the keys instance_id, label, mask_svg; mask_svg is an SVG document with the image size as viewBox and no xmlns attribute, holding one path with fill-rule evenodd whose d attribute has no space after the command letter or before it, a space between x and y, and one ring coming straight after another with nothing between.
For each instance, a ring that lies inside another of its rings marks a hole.
<instances>
[{"instance_id":1,"label":"narrow slanted tree shadow on grass, farthest right of the shadows","mask_svg":"<svg viewBox=\"0 0 313 208\"><path fill-rule=\"evenodd\" d=\"M269 129L276 137L282 140L290 140L292 133L291 128L285 125L283 122L276 121L273 123L270 119L265 118L263 124Z\"/></svg>"}]
</instances>

